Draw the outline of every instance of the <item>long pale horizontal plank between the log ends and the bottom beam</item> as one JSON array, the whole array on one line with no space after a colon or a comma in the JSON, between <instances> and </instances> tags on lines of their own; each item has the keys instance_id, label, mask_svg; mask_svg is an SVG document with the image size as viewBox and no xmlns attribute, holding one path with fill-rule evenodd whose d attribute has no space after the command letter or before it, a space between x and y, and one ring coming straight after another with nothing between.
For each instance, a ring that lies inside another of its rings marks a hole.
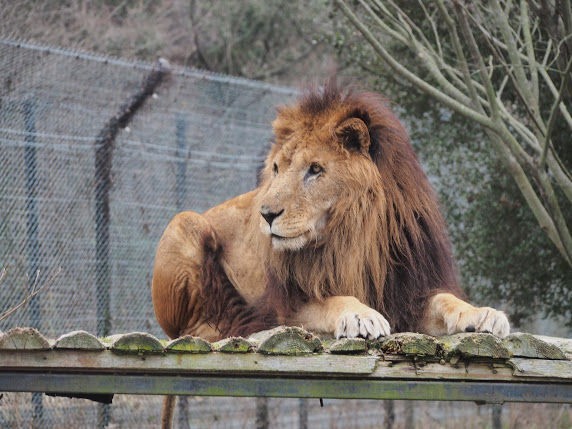
<instances>
[{"instance_id":1,"label":"long pale horizontal plank between the log ends and the bottom beam","mask_svg":"<svg viewBox=\"0 0 572 429\"><path fill-rule=\"evenodd\" d=\"M403 380L560 381L572 384L571 361L513 358L509 364L486 362L387 362L374 356L303 355L273 356L256 353L118 355L110 351L10 351L0 353L0 372L69 370L75 372L308 374L354 375ZM514 368L514 369L513 369ZM514 373L514 375L513 375ZM516 377L516 378L515 378Z\"/></svg>"}]
</instances>

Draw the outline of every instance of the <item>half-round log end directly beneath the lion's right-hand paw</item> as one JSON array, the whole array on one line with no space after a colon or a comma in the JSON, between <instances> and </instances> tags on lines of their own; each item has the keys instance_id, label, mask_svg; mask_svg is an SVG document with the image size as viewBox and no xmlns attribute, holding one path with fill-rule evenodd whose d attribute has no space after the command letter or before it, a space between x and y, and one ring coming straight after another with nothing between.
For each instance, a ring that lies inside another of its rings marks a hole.
<instances>
[{"instance_id":1,"label":"half-round log end directly beneath the lion's right-hand paw","mask_svg":"<svg viewBox=\"0 0 572 429\"><path fill-rule=\"evenodd\" d=\"M447 357L484 357L508 359L510 352L502 340L492 334L462 333L439 338L439 344Z\"/></svg>"}]
</instances>

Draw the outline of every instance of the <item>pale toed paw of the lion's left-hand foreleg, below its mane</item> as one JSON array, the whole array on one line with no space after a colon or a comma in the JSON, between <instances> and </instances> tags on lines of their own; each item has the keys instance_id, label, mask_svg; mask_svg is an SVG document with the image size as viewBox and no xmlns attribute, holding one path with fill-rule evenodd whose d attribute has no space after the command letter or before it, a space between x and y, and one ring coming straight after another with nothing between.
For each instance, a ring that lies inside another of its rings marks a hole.
<instances>
[{"instance_id":1,"label":"pale toed paw of the lion's left-hand foreleg, below its mane","mask_svg":"<svg viewBox=\"0 0 572 429\"><path fill-rule=\"evenodd\" d=\"M389 323L372 308L359 313L344 311L336 321L336 338L366 338L375 340L390 334Z\"/></svg>"}]
</instances>

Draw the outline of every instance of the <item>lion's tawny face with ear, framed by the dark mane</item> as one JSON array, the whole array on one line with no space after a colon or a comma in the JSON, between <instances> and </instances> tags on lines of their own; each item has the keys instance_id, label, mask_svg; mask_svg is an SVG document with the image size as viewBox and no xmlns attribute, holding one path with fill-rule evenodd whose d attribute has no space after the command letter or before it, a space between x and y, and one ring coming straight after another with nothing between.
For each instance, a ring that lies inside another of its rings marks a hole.
<instances>
[{"instance_id":1,"label":"lion's tawny face with ear, framed by the dark mane","mask_svg":"<svg viewBox=\"0 0 572 429\"><path fill-rule=\"evenodd\" d=\"M277 141L266 160L259 192L260 228L276 251L318 246L336 209L349 205L376 176L367 156L365 124L350 118L324 123L275 123ZM356 168L359 167L359 168Z\"/></svg>"}]
</instances>

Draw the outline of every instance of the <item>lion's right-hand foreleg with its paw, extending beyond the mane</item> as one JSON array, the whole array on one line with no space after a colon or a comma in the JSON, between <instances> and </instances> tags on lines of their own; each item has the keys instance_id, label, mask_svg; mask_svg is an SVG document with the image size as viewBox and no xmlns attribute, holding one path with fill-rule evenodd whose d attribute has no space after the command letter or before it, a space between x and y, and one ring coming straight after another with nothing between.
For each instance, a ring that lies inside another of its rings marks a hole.
<instances>
[{"instance_id":1,"label":"lion's right-hand foreleg with its paw, extending beyond the mane","mask_svg":"<svg viewBox=\"0 0 572 429\"><path fill-rule=\"evenodd\" d=\"M429 335L457 332L490 332L505 337L510 325L502 311L491 307L474 307L450 293L431 297L420 331Z\"/></svg>"}]
</instances>

